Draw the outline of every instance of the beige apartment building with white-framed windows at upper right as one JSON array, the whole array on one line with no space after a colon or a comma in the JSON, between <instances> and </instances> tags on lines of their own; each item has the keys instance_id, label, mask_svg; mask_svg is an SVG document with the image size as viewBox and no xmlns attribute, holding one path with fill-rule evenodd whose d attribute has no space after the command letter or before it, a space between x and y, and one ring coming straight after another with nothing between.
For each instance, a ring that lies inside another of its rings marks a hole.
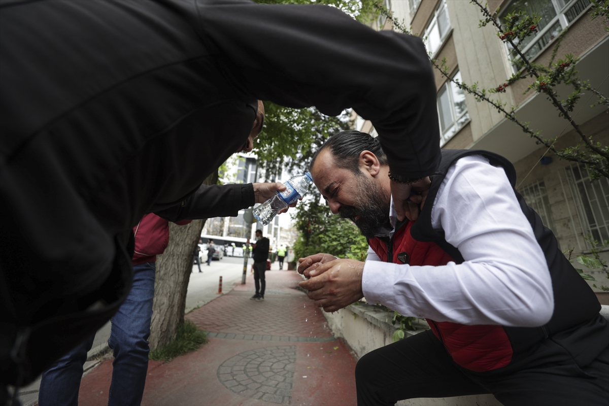
<instances>
[{"instance_id":1,"label":"beige apartment building with white-framed windows at upper right","mask_svg":"<svg viewBox=\"0 0 609 406\"><path fill-rule=\"evenodd\" d=\"M394 18L415 35L424 38L432 58L446 58L449 75L462 82L477 82L483 88L496 88L506 82L521 63L499 40L492 26L479 28L481 11L468 0L385 0ZM609 94L609 35L602 19L591 20L590 0L488 0L488 9L498 16L524 10L541 16L535 37L527 38L524 54L535 63L547 65L562 30L567 30L557 59L565 54L580 57L580 78L590 80L603 94ZM392 29L391 21L379 18L376 29ZM530 82L521 80L496 94L507 106L518 106L517 116L530 122L533 130L543 130L551 138L560 135L556 146L575 145L579 136L546 100L529 91ZM508 158L518 173L518 191L557 236L561 250L574 248L574 254L589 253L585 237L609 239L609 181L591 181L583 166L558 159L547 148L540 148L513 122L485 102L476 102L435 72L440 145L446 149L484 149ZM559 88L564 98L572 89ZM590 108L596 97L585 94L574 111L574 120L584 133L609 144L609 114L606 107ZM370 122L356 121L361 131L375 133ZM605 259L609 251L602 253ZM597 285L609 285L600 271L590 272ZM594 289L595 292L601 292ZM609 304L609 293L597 293Z\"/></svg>"}]
</instances>

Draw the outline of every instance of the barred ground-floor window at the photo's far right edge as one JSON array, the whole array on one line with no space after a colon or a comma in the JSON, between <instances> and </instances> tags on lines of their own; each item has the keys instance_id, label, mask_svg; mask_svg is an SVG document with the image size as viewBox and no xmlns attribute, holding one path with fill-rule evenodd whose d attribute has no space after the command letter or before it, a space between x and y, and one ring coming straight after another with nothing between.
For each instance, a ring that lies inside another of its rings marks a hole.
<instances>
[{"instance_id":1,"label":"barred ground-floor window at the photo's far right edge","mask_svg":"<svg viewBox=\"0 0 609 406\"><path fill-rule=\"evenodd\" d=\"M591 234L599 242L609 240L609 181L591 181L583 165L574 164L565 170L580 219L585 219L584 234Z\"/></svg>"}]
</instances>

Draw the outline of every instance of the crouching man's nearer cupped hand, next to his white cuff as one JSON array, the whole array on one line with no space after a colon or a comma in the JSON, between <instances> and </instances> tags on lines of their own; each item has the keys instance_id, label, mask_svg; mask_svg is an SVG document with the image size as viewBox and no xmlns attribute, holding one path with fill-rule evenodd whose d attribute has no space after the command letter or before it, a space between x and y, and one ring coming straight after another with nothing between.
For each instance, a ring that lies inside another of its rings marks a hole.
<instances>
[{"instance_id":1,"label":"crouching man's nearer cupped hand, next to his white cuff","mask_svg":"<svg viewBox=\"0 0 609 406\"><path fill-rule=\"evenodd\" d=\"M309 271L311 279L298 285L308 290L307 295L315 301L315 306L323 307L326 312L336 312L364 297L362 273L364 262L335 259Z\"/></svg>"}]
</instances>

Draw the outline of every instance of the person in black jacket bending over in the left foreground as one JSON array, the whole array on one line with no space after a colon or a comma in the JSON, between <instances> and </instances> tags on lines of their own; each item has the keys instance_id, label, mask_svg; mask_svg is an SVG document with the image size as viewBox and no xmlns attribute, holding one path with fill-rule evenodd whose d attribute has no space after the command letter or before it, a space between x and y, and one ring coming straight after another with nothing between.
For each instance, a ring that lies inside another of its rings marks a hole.
<instances>
[{"instance_id":1,"label":"person in black jacket bending over in the left foreground","mask_svg":"<svg viewBox=\"0 0 609 406\"><path fill-rule=\"evenodd\" d=\"M0 49L1 385L31 382L112 317L133 226L251 150L256 100L354 108L400 182L440 161L422 41L333 7L3 1ZM401 217L410 188L392 183Z\"/></svg>"}]
</instances>

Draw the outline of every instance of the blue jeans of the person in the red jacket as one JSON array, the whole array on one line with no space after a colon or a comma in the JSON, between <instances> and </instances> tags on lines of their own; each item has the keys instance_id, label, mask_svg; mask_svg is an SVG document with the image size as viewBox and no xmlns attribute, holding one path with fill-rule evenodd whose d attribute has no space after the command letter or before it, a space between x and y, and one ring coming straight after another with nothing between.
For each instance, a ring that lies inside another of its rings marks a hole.
<instances>
[{"instance_id":1,"label":"blue jeans of the person in the red jacket","mask_svg":"<svg viewBox=\"0 0 609 406\"><path fill-rule=\"evenodd\" d=\"M133 287L112 318L108 345L114 351L108 405L139 405L148 371L148 337L152 319L155 263L133 266ZM94 337L74 348L42 374L38 404L68 406L78 404L82 366Z\"/></svg>"}]
</instances>

